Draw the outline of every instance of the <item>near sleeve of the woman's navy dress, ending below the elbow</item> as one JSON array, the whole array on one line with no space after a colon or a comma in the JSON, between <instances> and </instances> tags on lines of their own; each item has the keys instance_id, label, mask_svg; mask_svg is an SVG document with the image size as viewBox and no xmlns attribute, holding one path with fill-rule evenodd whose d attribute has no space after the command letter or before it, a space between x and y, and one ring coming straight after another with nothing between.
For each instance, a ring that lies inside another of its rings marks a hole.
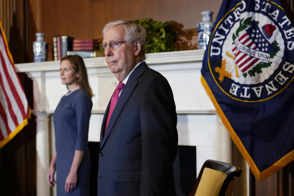
<instances>
[{"instance_id":1,"label":"near sleeve of the woman's navy dress, ending below the elbow","mask_svg":"<svg viewBox=\"0 0 294 196\"><path fill-rule=\"evenodd\" d=\"M77 116L77 140L75 150L85 151L88 145L89 121L92 110L91 96L85 93L78 96L75 102Z\"/></svg>"}]
</instances>

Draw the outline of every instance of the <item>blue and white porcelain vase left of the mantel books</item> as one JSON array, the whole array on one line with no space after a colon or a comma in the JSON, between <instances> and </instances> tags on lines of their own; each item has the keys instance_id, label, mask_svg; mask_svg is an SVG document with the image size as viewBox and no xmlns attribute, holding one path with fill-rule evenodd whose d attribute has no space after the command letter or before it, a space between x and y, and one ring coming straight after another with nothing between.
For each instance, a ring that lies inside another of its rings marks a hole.
<instances>
[{"instance_id":1,"label":"blue and white porcelain vase left of the mantel books","mask_svg":"<svg viewBox=\"0 0 294 196\"><path fill-rule=\"evenodd\" d=\"M44 33L36 33L37 40L33 42L34 62L47 61L47 42L44 41Z\"/></svg>"}]
</instances>

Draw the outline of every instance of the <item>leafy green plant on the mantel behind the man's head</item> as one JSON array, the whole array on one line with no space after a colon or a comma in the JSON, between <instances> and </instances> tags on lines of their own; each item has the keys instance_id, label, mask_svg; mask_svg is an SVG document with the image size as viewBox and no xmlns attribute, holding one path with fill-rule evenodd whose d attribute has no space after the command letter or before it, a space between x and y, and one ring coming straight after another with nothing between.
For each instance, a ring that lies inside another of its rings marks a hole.
<instances>
[{"instance_id":1,"label":"leafy green plant on the mantel behind the man's head","mask_svg":"<svg viewBox=\"0 0 294 196\"><path fill-rule=\"evenodd\" d=\"M145 46L147 53L177 51L176 35L169 22L154 21L152 18L134 20L135 24L146 28Z\"/></svg>"}]
</instances>

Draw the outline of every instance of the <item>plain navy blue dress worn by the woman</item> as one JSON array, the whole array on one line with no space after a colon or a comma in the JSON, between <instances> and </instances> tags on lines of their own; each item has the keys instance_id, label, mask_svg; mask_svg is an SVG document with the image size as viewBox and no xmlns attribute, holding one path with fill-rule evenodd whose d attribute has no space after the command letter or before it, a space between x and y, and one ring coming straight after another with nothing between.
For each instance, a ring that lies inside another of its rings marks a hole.
<instances>
[{"instance_id":1,"label":"plain navy blue dress worn by the woman","mask_svg":"<svg viewBox=\"0 0 294 196\"><path fill-rule=\"evenodd\" d=\"M57 196L89 196L88 131L91 110L91 96L84 89L78 89L68 96L63 96L53 114L55 149L57 152ZM84 151L85 154L78 170L77 186L72 192L67 193L64 186L74 159L75 150Z\"/></svg>"}]
</instances>

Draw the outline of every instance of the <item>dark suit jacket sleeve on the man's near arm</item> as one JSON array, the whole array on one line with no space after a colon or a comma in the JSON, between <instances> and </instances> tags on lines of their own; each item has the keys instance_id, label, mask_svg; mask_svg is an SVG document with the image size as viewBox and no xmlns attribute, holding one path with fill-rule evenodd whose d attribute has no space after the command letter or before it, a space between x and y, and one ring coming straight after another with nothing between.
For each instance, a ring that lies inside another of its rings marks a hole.
<instances>
[{"instance_id":1,"label":"dark suit jacket sleeve on the man's near arm","mask_svg":"<svg viewBox=\"0 0 294 196\"><path fill-rule=\"evenodd\" d=\"M177 115L171 87L164 77L147 85L140 104L142 195L165 195L173 182L172 164L178 147Z\"/></svg>"}]
</instances>

